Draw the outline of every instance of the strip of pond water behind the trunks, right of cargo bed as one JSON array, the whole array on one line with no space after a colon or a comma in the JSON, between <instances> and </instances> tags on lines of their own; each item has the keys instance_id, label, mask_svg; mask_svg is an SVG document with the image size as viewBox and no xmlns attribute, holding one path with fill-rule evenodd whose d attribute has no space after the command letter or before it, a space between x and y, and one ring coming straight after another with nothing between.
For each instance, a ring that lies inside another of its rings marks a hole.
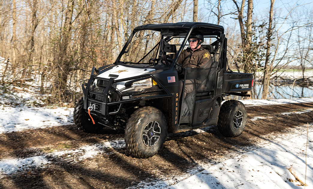
<instances>
[{"instance_id":1,"label":"strip of pond water behind the trunks, right of cargo bed","mask_svg":"<svg viewBox=\"0 0 313 189\"><path fill-rule=\"evenodd\" d=\"M260 82L254 82L252 96L255 99L262 98L263 86ZM280 98L300 98L300 97L313 97L313 86L298 86L298 85L281 85L269 86L269 99Z\"/></svg>"}]
</instances>

